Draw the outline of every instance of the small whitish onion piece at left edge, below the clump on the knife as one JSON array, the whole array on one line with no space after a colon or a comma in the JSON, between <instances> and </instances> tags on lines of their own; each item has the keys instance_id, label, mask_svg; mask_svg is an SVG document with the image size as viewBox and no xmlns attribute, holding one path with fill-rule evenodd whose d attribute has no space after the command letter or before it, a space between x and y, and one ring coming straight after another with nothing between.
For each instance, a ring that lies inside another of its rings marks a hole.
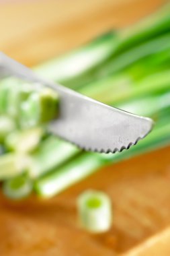
<instances>
[{"instance_id":1,"label":"small whitish onion piece at left edge, below the clump on the knife","mask_svg":"<svg viewBox=\"0 0 170 256\"><path fill-rule=\"evenodd\" d=\"M10 117L0 116L0 141L4 141L5 137L14 131L16 128L15 122Z\"/></svg>"}]
</instances>

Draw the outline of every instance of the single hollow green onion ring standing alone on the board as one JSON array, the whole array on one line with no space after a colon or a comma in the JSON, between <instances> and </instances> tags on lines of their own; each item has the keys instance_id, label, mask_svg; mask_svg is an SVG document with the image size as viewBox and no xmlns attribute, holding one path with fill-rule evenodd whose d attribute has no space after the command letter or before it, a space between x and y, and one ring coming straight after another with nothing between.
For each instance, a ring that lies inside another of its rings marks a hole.
<instances>
[{"instance_id":1,"label":"single hollow green onion ring standing alone on the board","mask_svg":"<svg viewBox=\"0 0 170 256\"><path fill-rule=\"evenodd\" d=\"M112 203L105 193L85 191L77 205L81 226L89 232L106 232L112 226Z\"/></svg>"}]
</instances>

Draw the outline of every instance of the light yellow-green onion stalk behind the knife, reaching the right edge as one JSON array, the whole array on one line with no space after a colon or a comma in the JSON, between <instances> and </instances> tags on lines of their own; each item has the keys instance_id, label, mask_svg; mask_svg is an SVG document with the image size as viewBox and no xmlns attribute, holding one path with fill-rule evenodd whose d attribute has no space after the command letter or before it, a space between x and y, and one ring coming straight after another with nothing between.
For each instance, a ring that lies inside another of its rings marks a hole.
<instances>
[{"instance_id":1,"label":"light yellow-green onion stalk behind the knife, reaching the right edge","mask_svg":"<svg viewBox=\"0 0 170 256\"><path fill-rule=\"evenodd\" d=\"M134 81L130 75L112 75L81 88L79 92L106 104L118 105L124 100L169 90L170 72L163 70Z\"/></svg>"}]
</instances>

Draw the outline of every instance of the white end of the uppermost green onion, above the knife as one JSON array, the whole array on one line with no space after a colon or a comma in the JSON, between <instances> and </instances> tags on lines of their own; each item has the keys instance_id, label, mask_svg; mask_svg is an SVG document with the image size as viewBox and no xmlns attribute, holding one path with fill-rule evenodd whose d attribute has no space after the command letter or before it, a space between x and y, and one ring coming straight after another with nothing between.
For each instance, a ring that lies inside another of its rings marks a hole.
<instances>
[{"instance_id":1,"label":"white end of the uppermost green onion, above the knife","mask_svg":"<svg viewBox=\"0 0 170 256\"><path fill-rule=\"evenodd\" d=\"M81 49L39 65L35 70L48 79L76 89L91 80L91 70L108 59L116 40L114 32L104 34Z\"/></svg>"}]
</instances>

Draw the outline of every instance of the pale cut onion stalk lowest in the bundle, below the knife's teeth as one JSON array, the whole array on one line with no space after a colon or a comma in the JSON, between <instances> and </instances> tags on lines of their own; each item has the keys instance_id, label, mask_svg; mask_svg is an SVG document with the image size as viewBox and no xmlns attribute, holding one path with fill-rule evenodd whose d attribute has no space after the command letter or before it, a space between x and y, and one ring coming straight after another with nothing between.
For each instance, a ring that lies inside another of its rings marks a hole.
<instances>
[{"instance_id":1,"label":"pale cut onion stalk lowest in the bundle, below the knife's teeth","mask_svg":"<svg viewBox=\"0 0 170 256\"><path fill-rule=\"evenodd\" d=\"M102 163L103 159L100 158L99 154L91 155L91 153L86 153L77 156L68 164L56 168L56 170L35 181L36 192L42 197L52 197L81 181L81 179L88 177Z\"/></svg>"}]
</instances>

